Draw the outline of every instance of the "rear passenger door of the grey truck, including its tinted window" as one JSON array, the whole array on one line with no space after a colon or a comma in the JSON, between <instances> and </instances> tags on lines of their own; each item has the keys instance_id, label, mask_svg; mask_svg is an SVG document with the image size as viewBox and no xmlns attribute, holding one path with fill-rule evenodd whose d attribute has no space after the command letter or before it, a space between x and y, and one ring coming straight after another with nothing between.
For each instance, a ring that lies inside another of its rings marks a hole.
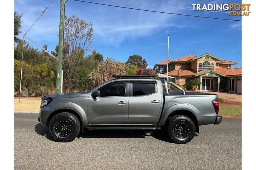
<instances>
[{"instance_id":1,"label":"rear passenger door of the grey truck, including its tinted window","mask_svg":"<svg viewBox=\"0 0 256 170\"><path fill-rule=\"evenodd\" d=\"M129 123L156 123L161 105L162 94L156 81L131 81Z\"/></svg>"}]
</instances>

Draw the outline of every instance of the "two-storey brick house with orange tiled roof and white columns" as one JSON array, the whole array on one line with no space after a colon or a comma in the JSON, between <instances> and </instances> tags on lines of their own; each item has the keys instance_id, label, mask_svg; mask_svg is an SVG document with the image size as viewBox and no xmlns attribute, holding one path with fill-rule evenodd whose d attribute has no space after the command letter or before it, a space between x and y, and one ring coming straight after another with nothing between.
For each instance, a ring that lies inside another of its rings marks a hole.
<instances>
[{"instance_id":1,"label":"two-storey brick house with orange tiled roof and white columns","mask_svg":"<svg viewBox=\"0 0 256 170\"><path fill-rule=\"evenodd\" d=\"M232 68L234 61L220 59L209 53L188 55L168 61L168 76L175 84L184 85L192 78L199 78L199 91L226 91L242 93L242 68ZM167 73L167 60L155 64L158 73Z\"/></svg>"}]
</instances>

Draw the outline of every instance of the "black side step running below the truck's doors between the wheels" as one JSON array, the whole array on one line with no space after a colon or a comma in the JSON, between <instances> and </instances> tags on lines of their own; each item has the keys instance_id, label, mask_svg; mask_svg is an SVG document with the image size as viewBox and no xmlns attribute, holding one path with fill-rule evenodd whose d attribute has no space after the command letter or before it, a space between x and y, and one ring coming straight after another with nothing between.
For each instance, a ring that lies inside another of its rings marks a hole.
<instances>
[{"instance_id":1,"label":"black side step running below the truck's doors between the wheels","mask_svg":"<svg viewBox=\"0 0 256 170\"><path fill-rule=\"evenodd\" d=\"M157 126L87 126L87 130L157 130Z\"/></svg>"}]
</instances>

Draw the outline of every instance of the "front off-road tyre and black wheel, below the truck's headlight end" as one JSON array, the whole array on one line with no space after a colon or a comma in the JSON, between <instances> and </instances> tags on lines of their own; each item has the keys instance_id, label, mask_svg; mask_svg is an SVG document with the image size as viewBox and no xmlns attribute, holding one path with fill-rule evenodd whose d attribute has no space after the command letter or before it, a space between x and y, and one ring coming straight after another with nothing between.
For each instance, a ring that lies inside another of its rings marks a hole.
<instances>
[{"instance_id":1,"label":"front off-road tyre and black wheel, below the truck's headlight end","mask_svg":"<svg viewBox=\"0 0 256 170\"><path fill-rule=\"evenodd\" d=\"M49 123L49 132L54 141L73 141L80 131L79 119L72 113L62 112L55 115Z\"/></svg>"}]
</instances>

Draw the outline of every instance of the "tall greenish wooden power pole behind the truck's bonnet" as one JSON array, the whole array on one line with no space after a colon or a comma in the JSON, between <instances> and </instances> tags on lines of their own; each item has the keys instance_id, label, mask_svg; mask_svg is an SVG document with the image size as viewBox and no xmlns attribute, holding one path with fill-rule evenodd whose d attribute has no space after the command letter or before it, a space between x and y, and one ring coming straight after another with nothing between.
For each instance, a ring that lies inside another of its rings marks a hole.
<instances>
[{"instance_id":1,"label":"tall greenish wooden power pole behind the truck's bonnet","mask_svg":"<svg viewBox=\"0 0 256 170\"><path fill-rule=\"evenodd\" d=\"M59 30L59 46L58 46L58 65L56 79L56 94L61 93L61 77L62 77L62 53L63 53L63 37L64 37L64 17L65 17L65 0L60 0L60 30Z\"/></svg>"}]
</instances>

